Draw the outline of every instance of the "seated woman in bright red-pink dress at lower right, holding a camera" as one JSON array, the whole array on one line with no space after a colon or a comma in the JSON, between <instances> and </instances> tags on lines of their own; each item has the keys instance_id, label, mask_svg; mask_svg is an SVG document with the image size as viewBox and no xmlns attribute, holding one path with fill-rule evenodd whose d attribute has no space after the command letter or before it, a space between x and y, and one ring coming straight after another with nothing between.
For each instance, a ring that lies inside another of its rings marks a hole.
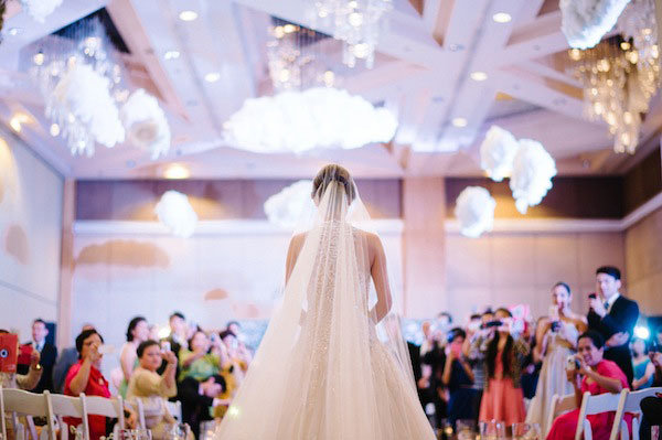
<instances>
[{"instance_id":1,"label":"seated woman in bright red-pink dress at lower right, holding a camera","mask_svg":"<svg viewBox=\"0 0 662 440\"><path fill-rule=\"evenodd\" d=\"M624 373L611 361L602 358L605 340L602 336L589 330L581 334L577 341L577 361L579 368L566 372L568 380L575 388L577 408L581 406L581 396L589 391L591 395L605 393L620 393L628 388L628 379ZM590 422L594 440L608 440L613 425L615 412L601 412L586 418ZM579 419L579 409L558 416L547 440L574 440ZM632 416L626 414L626 421L630 434L632 432Z\"/></svg>"}]
</instances>

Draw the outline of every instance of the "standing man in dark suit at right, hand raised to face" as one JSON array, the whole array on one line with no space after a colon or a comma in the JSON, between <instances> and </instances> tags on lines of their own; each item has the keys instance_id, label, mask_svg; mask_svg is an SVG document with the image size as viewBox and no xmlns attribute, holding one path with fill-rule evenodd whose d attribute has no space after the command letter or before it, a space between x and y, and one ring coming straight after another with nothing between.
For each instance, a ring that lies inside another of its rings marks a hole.
<instances>
[{"instance_id":1,"label":"standing man in dark suit at right, hand raised to face","mask_svg":"<svg viewBox=\"0 0 662 440\"><path fill-rule=\"evenodd\" d=\"M613 361L632 384L634 373L629 342L639 319L639 305L620 294L620 270L612 266L596 270L597 297L588 300L588 328L605 337L605 358Z\"/></svg>"}]
</instances>

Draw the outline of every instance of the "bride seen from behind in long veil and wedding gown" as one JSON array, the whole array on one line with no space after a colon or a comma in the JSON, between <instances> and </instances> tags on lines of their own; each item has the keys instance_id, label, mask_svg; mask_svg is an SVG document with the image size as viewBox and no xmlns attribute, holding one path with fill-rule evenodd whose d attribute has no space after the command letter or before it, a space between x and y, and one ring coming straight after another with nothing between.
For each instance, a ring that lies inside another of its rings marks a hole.
<instances>
[{"instance_id":1,"label":"bride seen from behind in long veil and wedding gown","mask_svg":"<svg viewBox=\"0 0 662 440\"><path fill-rule=\"evenodd\" d=\"M290 242L285 293L215 440L435 439L350 173L324 167L312 200L314 221Z\"/></svg>"}]
</instances>

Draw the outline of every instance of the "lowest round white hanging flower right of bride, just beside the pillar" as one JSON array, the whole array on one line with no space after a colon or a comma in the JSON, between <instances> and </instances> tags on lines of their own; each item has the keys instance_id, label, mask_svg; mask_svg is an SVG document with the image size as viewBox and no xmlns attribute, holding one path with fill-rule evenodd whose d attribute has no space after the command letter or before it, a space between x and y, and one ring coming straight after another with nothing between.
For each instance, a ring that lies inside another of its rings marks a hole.
<instances>
[{"instance_id":1,"label":"lowest round white hanging flower right of bride, just beside the pillar","mask_svg":"<svg viewBox=\"0 0 662 440\"><path fill-rule=\"evenodd\" d=\"M456 217L460 222L460 233L477 238L492 230L496 202L482 186L467 186L456 201Z\"/></svg>"}]
</instances>

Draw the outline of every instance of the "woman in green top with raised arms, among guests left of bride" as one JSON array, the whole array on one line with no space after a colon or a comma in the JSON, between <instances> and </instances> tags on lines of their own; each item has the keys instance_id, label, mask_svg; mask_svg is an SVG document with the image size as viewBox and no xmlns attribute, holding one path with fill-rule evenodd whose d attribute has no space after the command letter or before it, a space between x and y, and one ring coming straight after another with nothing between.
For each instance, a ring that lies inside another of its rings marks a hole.
<instances>
[{"instance_id":1,"label":"woman in green top with raised arms, among guests left of bride","mask_svg":"<svg viewBox=\"0 0 662 440\"><path fill-rule=\"evenodd\" d=\"M212 342L202 330L199 330L189 341L189 348L180 350L180 382L186 377L192 377L195 380L204 380L221 372L222 342L217 336ZM223 365L227 367L227 357L223 356Z\"/></svg>"}]
</instances>

